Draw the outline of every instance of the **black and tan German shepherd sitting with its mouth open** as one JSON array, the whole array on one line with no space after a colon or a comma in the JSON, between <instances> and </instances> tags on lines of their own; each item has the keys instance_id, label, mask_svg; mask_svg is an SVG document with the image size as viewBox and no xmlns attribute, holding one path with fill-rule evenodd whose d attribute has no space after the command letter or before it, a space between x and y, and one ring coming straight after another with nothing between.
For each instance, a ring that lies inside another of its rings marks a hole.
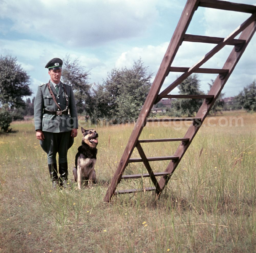
<instances>
[{"instance_id":1,"label":"black and tan German shepherd sitting with its mouth open","mask_svg":"<svg viewBox=\"0 0 256 253\"><path fill-rule=\"evenodd\" d=\"M78 184L78 189L81 189L81 181L85 181L91 187L96 182L96 173L94 165L96 163L98 134L95 130L82 130L82 145L79 146L76 154L75 165L73 168L73 176Z\"/></svg>"}]
</instances>

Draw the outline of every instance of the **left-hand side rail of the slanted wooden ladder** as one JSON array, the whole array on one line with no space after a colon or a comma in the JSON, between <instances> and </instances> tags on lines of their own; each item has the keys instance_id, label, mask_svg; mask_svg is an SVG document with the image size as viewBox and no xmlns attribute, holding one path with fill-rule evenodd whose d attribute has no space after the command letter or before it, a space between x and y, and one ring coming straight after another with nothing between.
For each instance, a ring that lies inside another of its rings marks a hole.
<instances>
[{"instance_id":1,"label":"left-hand side rail of the slanted wooden ladder","mask_svg":"<svg viewBox=\"0 0 256 253\"><path fill-rule=\"evenodd\" d=\"M145 102L144 102L144 105L142 107L140 115L137 119L137 122L133 129L133 132L131 134L131 137L130 137L130 139L126 145L126 148L124 150L124 153L120 159L118 168L116 169L115 174L110 182L110 186L106 192L104 202L109 202L115 193L116 186L118 185L118 183L121 180L123 171L125 170L125 167L128 164L128 160L131 157L132 151L138 141L138 138L142 132L143 127L146 124L146 119L150 113L150 110L152 109L152 107L155 103L155 100L159 94L159 91L162 87L165 77L169 73L169 66L172 64L174 57L178 51L178 48L179 48L180 44L182 43L182 40L183 40L184 34L188 28L188 25L193 17L195 10L198 7L198 3L199 3L199 0L188 0L184 7L184 10L179 19L178 25L174 31L173 37L170 41L170 44L169 44L167 51L164 55L164 58L159 67L159 70L156 74L154 82L151 86L151 89L147 95Z\"/></svg>"}]
</instances>

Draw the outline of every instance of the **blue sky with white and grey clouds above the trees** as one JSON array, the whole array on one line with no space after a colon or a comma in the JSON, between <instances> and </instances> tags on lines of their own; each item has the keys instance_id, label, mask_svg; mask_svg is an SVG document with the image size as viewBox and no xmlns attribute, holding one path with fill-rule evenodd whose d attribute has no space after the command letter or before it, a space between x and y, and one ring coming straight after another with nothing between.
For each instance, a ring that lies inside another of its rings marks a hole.
<instances>
[{"instance_id":1,"label":"blue sky with white and grey clouds above the trees","mask_svg":"<svg viewBox=\"0 0 256 253\"><path fill-rule=\"evenodd\" d=\"M233 0L256 5L256 0ZM132 67L141 59L152 82L162 62L186 0L0 0L0 54L17 58L30 76L35 96L49 80L46 63L66 55L90 72L89 82L102 83L113 68ZM227 37L250 14L199 7L186 33ZM237 37L238 38L238 37ZM172 66L191 67L215 44L183 42ZM235 96L256 79L256 35L223 88ZM202 67L222 68L232 46ZM65 67L65 66L63 66ZM162 89L182 73L170 73ZM201 90L217 75L198 74ZM172 94L178 94L176 87Z\"/></svg>"}]
</instances>

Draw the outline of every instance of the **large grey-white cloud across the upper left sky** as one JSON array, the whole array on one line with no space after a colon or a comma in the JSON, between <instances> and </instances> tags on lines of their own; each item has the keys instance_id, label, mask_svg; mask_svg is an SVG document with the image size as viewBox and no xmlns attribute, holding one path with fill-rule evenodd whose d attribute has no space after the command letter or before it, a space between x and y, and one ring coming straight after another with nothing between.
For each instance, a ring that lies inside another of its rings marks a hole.
<instances>
[{"instance_id":1,"label":"large grey-white cloud across the upper left sky","mask_svg":"<svg viewBox=\"0 0 256 253\"><path fill-rule=\"evenodd\" d=\"M11 30L60 44L97 46L141 36L157 17L156 0L77 0L0 2L0 18ZM4 28L2 28L4 30Z\"/></svg>"}]
</instances>

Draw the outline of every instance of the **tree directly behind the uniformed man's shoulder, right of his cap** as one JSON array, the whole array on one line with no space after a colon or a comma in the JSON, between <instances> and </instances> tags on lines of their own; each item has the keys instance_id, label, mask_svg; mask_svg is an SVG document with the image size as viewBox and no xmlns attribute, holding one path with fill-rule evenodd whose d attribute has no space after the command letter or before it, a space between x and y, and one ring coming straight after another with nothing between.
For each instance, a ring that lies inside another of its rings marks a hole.
<instances>
[{"instance_id":1,"label":"tree directly behind the uniformed man's shoulder, right of his cap","mask_svg":"<svg viewBox=\"0 0 256 253\"><path fill-rule=\"evenodd\" d=\"M83 113L85 111L86 114L91 115L93 110L91 85L88 83L90 72L86 71L79 62L78 58L70 60L70 56L66 55L63 59L62 79L63 83L72 85L77 112Z\"/></svg>"}]
</instances>

